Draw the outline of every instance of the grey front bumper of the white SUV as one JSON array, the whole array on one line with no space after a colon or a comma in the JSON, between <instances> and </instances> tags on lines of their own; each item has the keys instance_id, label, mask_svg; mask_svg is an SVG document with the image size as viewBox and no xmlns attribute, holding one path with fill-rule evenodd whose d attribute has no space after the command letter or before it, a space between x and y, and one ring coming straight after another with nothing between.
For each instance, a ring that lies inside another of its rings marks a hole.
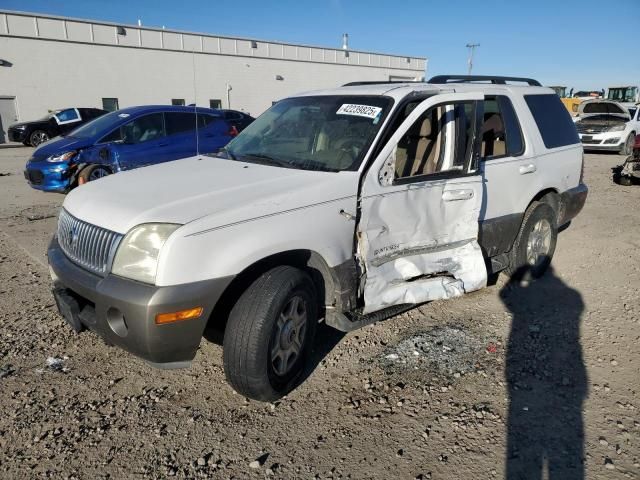
<instances>
[{"instance_id":1,"label":"grey front bumper of the white SUV","mask_svg":"<svg viewBox=\"0 0 640 480\"><path fill-rule=\"evenodd\" d=\"M72 263L55 237L48 257L56 303L69 323L77 322L77 327L86 327L160 368L190 364L213 307L233 279L156 287L111 274L103 278ZM196 319L155 323L158 313L198 306L203 313Z\"/></svg>"}]
</instances>

